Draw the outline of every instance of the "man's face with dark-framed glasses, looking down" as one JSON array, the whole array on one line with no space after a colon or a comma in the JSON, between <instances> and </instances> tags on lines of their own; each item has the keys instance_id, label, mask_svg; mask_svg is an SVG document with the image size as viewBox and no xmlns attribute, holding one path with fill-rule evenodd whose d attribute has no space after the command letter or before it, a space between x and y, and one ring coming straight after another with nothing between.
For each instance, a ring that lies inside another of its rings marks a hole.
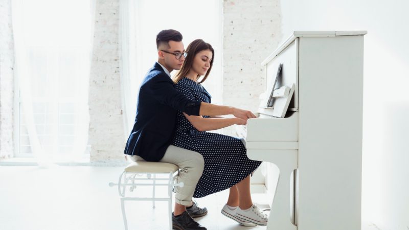
<instances>
[{"instance_id":1,"label":"man's face with dark-framed glasses, looking down","mask_svg":"<svg viewBox=\"0 0 409 230\"><path fill-rule=\"evenodd\" d=\"M176 59L176 56L174 54L177 54L177 53L181 54L185 52L185 47L183 45L183 42L169 41L169 47L164 45L163 47L159 48L159 51L158 51L159 58L164 60L167 68L171 68L172 70L180 70L183 62L185 61L185 57L181 55L179 59ZM162 52L161 50L167 51L169 53L174 53L174 54L165 53L165 52Z\"/></svg>"}]
</instances>

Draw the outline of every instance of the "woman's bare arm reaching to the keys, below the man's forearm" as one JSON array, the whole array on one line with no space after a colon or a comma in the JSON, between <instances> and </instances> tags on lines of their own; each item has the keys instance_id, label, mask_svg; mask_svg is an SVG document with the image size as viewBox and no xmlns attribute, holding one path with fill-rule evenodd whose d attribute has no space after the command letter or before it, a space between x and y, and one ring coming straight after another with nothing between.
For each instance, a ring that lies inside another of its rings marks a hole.
<instances>
[{"instance_id":1,"label":"woman's bare arm reaching to the keys, below the man's forearm","mask_svg":"<svg viewBox=\"0 0 409 230\"><path fill-rule=\"evenodd\" d=\"M225 128L234 124L245 125L246 120L241 118L203 118L200 116L189 116L184 113L188 121L199 131L210 131Z\"/></svg>"}]
</instances>

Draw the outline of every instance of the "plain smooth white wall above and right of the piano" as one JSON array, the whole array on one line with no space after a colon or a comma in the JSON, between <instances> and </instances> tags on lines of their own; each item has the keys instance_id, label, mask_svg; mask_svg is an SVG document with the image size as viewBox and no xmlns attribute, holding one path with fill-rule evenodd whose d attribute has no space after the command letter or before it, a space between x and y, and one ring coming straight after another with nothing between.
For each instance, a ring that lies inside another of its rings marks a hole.
<instances>
[{"instance_id":1,"label":"plain smooth white wall above and right of the piano","mask_svg":"<svg viewBox=\"0 0 409 230\"><path fill-rule=\"evenodd\" d=\"M363 89L362 229L409 229L409 1L281 2L283 34L367 30Z\"/></svg>"}]
</instances>

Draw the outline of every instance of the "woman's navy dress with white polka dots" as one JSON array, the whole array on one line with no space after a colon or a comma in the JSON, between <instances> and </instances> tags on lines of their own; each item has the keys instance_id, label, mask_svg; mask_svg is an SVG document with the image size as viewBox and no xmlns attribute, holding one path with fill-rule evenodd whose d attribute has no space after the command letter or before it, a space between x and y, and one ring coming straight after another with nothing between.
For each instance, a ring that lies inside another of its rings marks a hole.
<instances>
[{"instance_id":1,"label":"woman's navy dress with white polka dots","mask_svg":"<svg viewBox=\"0 0 409 230\"><path fill-rule=\"evenodd\" d=\"M185 77L177 82L176 88L189 99L211 102L208 91L189 78ZM176 127L172 145L198 152L205 159L205 169L193 197L203 197L229 189L261 164L257 160L248 159L246 148L240 139L218 133L200 132L180 111L177 114Z\"/></svg>"}]
</instances>

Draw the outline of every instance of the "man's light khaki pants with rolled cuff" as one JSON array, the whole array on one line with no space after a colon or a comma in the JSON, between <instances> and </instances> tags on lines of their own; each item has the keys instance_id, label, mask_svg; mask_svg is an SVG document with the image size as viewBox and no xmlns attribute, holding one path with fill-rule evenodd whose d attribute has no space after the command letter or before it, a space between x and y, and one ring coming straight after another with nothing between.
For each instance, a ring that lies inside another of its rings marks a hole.
<instances>
[{"instance_id":1,"label":"man's light khaki pants with rolled cuff","mask_svg":"<svg viewBox=\"0 0 409 230\"><path fill-rule=\"evenodd\" d=\"M133 155L130 158L133 162L145 161L137 155ZM200 153L171 145L160 162L171 163L180 168L177 182L184 182L185 186L183 188L175 188L176 203L186 206L191 205L197 181L199 181L205 167L203 156Z\"/></svg>"}]
</instances>

